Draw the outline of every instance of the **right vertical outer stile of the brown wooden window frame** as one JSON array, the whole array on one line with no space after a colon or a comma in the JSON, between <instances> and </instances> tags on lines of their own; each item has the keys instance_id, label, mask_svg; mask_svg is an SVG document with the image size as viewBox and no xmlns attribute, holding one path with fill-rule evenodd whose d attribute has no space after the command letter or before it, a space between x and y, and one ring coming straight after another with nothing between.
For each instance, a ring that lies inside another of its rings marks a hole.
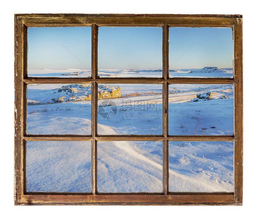
<instances>
[{"instance_id":1,"label":"right vertical outer stile of the brown wooden window frame","mask_svg":"<svg viewBox=\"0 0 256 219\"><path fill-rule=\"evenodd\" d=\"M235 201L243 201L243 29L242 18L234 18L234 171Z\"/></svg>"}]
</instances>

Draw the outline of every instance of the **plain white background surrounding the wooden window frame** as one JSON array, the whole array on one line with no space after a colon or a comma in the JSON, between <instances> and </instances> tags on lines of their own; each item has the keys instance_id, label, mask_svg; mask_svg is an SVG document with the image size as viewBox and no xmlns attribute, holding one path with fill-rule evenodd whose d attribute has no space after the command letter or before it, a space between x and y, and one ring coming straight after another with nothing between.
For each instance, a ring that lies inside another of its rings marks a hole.
<instances>
[{"instance_id":1,"label":"plain white background surrounding the wooden window frame","mask_svg":"<svg viewBox=\"0 0 256 219\"><path fill-rule=\"evenodd\" d=\"M180 2L180 3L178 3ZM255 196L255 19L253 1L3 1L1 3L1 215L3 218L240 218ZM244 195L242 207L221 206L14 206L14 14L140 13L242 14L244 75ZM3 140L4 138L4 140ZM252 212L253 213L253 212ZM253 213L254 215L254 213ZM245 216L246 217L246 216Z\"/></svg>"}]
</instances>

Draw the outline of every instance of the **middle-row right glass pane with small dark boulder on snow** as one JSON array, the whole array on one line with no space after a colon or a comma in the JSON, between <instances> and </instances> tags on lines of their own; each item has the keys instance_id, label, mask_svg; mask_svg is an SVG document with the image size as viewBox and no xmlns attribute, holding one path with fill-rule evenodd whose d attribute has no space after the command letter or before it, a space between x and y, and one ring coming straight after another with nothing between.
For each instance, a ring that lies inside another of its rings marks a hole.
<instances>
[{"instance_id":1,"label":"middle-row right glass pane with small dark boulder on snow","mask_svg":"<svg viewBox=\"0 0 256 219\"><path fill-rule=\"evenodd\" d=\"M169 85L169 135L233 135L233 127L233 85Z\"/></svg>"}]
</instances>

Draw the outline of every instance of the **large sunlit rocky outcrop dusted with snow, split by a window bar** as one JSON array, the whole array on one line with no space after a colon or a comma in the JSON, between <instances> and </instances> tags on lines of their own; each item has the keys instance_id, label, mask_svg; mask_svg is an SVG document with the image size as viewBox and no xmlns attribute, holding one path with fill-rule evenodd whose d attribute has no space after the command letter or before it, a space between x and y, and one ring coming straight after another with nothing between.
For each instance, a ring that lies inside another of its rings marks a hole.
<instances>
[{"instance_id":1,"label":"large sunlit rocky outcrop dusted with snow, split by a window bar","mask_svg":"<svg viewBox=\"0 0 256 219\"><path fill-rule=\"evenodd\" d=\"M52 98L54 103L76 102L92 99L91 86L89 84L69 84L54 89L59 93L59 98ZM98 86L98 99L111 99L121 97L121 87Z\"/></svg>"}]
</instances>

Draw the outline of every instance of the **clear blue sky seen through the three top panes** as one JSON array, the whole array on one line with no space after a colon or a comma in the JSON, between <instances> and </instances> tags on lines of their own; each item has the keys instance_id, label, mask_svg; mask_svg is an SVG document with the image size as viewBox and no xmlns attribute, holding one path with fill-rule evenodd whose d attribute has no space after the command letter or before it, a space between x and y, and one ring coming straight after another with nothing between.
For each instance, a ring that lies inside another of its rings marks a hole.
<instances>
[{"instance_id":1,"label":"clear blue sky seen through the three top panes","mask_svg":"<svg viewBox=\"0 0 256 219\"><path fill-rule=\"evenodd\" d=\"M232 67L230 28L171 27L169 42L170 69ZM98 67L161 69L162 28L99 27ZM91 27L30 27L28 69L41 68L91 69Z\"/></svg>"}]
</instances>

